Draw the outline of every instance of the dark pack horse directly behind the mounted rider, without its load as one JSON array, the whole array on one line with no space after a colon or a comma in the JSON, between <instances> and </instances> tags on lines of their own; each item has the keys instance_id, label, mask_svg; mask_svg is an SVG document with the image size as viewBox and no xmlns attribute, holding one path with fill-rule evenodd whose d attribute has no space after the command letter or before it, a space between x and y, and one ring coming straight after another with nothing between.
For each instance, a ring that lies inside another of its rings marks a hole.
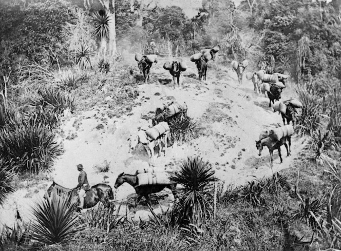
<instances>
[{"instance_id":1,"label":"dark pack horse directly behind the mounted rider, without its load","mask_svg":"<svg viewBox=\"0 0 341 251\"><path fill-rule=\"evenodd\" d=\"M144 197L148 203L148 205L151 207L149 202L149 196L150 194L155 194L156 192L162 191L164 188L169 188L172 191L172 194L174 195L174 198L177 199L178 195L176 192L176 185L173 184L153 184L153 185L141 185L139 186L139 181L137 178L137 175L128 175L127 173L122 172L116 179L115 187L116 189L119 188L123 183L128 183L132 187L135 188L137 198L135 201L135 207L134 211L136 211L137 204L140 202L142 197Z\"/></svg>"}]
</instances>

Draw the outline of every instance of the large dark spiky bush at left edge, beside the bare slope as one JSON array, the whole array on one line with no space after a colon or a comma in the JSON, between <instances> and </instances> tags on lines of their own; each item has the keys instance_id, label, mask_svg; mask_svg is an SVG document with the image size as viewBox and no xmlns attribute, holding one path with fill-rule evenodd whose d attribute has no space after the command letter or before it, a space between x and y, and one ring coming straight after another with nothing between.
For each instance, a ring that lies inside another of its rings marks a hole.
<instances>
[{"instance_id":1,"label":"large dark spiky bush at left edge, beside the bare slope","mask_svg":"<svg viewBox=\"0 0 341 251\"><path fill-rule=\"evenodd\" d=\"M24 124L14 130L0 132L0 152L16 171L37 173L62 153L55 135L41 124Z\"/></svg>"}]
</instances>

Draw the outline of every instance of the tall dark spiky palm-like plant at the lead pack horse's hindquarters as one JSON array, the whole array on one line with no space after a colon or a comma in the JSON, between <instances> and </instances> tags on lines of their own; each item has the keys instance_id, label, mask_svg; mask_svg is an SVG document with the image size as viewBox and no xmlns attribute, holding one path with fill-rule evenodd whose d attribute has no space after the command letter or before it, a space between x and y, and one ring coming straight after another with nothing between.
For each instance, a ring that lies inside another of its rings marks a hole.
<instances>
[{"instance_id":1,"label":"tall dark spiky palm-like plant at the lead pack horse's hindquarters","mask_svg":"<svg viewBox=\"0 0 341 251\"><path fill-rule=\"evenodd\" d=\"M201 226L212 209L209 183L218 181L209 162L199 157L188 157L170 179L182 185L179 203L175 208L176 220L185 225Z\"/></svg>"}]
</instances>

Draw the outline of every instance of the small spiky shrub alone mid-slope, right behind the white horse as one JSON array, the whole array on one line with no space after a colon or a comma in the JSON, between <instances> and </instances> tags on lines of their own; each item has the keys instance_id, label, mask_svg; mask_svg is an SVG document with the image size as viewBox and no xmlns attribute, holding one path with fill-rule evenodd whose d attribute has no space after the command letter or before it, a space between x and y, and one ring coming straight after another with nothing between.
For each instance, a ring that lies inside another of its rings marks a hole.
<instances>
[{"instance_id":1,"label":"small spiky shrub alone mid-slope, right behind the white horse","mask_svg":"<svg viewBox=\"0 0 341 251\"><path fill-rule=\"evenodd\" d=\"M190 142L197 137L197 122L194 122L186 113L173 116L168 124L173 141Z\"/></svg>"}]
</instances>

